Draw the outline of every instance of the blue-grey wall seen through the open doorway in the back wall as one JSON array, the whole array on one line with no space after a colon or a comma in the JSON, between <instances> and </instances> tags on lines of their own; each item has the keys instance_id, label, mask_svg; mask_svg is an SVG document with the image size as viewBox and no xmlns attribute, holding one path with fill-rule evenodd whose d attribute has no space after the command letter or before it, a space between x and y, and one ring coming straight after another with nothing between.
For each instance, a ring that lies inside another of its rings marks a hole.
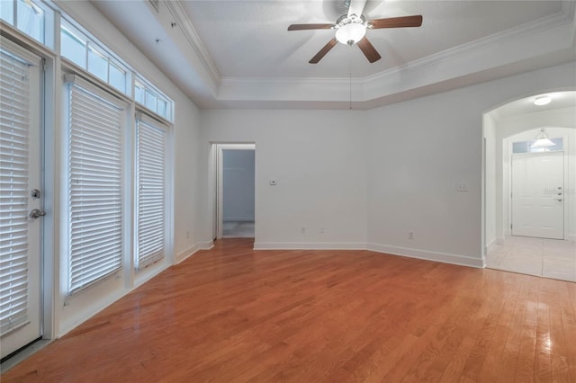
<instances>
[{"instance_id":1,"label":"blue-grey wall seen through the open doorway in the back wall","mask_svg":"<svg viewBox=\"0 0 576 383\"><path fill-rule=\"evenodd\" d=\"M254 221L254 150L223 150L222 162L224 222Z\"/></svg>"}]
</instances>

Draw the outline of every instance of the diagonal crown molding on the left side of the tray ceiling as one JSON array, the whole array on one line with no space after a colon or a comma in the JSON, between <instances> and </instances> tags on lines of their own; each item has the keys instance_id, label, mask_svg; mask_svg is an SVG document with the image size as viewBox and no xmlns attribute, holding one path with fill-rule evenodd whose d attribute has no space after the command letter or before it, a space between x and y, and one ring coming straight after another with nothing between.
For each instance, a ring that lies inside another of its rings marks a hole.
<instances>
[{"instance_id":1,"label":"diagonal crown molding on the left side of the tray ceiling","mask_svg":"<svg viewBox=\"0 0 576 383\"><path fill-rule=\"evenodd\" d=\"M193 49L196 56L200 58L202 66L211 76L212 81L216 84L220 84L221 76L220 72L218 71L218 67L216 67L216 64L211 58L210 53L208 53L208 50L206 47L204 47L204 44L202 43L202 40L200 40L198 33L196 33L192 21L184 10L183 2L165 1L164 4L166 4L166 8L174 17L175 22L180 27L180 30L184 33L184 37L188 41L188 45L190 45L190 47Z\"/></svg>"}]
</instances>

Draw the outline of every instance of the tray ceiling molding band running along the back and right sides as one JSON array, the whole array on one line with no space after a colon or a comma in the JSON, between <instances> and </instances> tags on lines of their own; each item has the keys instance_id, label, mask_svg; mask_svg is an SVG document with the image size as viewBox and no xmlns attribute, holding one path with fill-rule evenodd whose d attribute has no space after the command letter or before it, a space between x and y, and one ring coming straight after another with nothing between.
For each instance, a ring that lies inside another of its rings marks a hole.
<instances>
[{"instance_id":1,"label":"tray ceiling molding band running along the back and right sides","mask_svg":"<svg viewBox=\"0 0 576 383\"><path fill-rule=\"evenodd\" d=\"M342 102L350 97L347 90L352 85L354 90L352 99L356 102L372 102L393 94L411 92L419 87L446 82L460 76L471 76L473 73L514 64L543 54L553 55L555 50L570 48L574 44L575 5L574 1L564 1L561 12L446 49L426 58L410 61L401 67L394 67L373 76L354 78L352 81L346 78L321 77L304 79L224 77L220 79L217 99L238 102L247 100ZM567 34L572 36L570 41L566 41ZM538 45L538 49L542 48L538 51L518 49L520 46L526 47L531 42L534 46L533 41L537 41L537 38L555 40L555 43ZM502 49L506 46L510 49ZM436 70L431 71L430 68Z\"/></svg>"}]
</instances>

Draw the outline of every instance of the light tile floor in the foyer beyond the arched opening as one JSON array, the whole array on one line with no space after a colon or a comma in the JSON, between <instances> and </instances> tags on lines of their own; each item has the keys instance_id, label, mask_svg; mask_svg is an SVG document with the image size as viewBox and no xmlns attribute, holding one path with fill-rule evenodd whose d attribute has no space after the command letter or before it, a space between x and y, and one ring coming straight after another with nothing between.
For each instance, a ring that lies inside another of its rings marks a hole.
<instances>
[{"instance_id":1,"label":"light tile floor in the foyer beyond the arched opening","mask_svg":"<svg viewBox=\"0 0 576 383\"><path fill-rule=\"evenodd\" d=\"M576 242L508 236L486 255L487 267L576 282Z\"/></svg>"}]
</instances>

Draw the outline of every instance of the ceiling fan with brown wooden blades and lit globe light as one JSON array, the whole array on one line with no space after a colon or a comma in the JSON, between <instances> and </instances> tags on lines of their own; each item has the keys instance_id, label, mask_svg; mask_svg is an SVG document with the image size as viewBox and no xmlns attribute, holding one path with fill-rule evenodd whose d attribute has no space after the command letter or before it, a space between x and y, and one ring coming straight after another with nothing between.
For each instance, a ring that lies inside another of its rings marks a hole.
<instances>
[{"instance_id":1,"label":"ceiling fan with brown wooden blades and lit globe light","mask_svg":"<svg viewBox=\"0 0 576 383\"><path fill-rule=\"evenodd\" d=\"M335 23L292 24L288 27L288 31L336 30L332 40L329 40L328 44L320 49L316 56L311 58L309 63L317 64L338 42L349 46L357 44L368 61L374 63L382 57L378 51L374 49L374 45L366 38L366 30L419 27L422 25L421 15L366 20L365 15L362 14L366 0L346 0L345 4L348 7L348 12L338 17Z\"/></svg>"}]
</instances>

